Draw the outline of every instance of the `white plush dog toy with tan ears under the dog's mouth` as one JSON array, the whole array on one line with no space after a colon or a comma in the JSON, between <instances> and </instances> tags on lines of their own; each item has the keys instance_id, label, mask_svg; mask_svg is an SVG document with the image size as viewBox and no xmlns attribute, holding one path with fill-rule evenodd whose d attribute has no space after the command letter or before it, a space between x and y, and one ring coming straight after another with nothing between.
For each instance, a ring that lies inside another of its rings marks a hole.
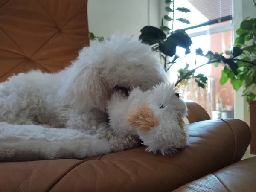
<instances>
[{"instance_id":1,"label":"white plush dog toy with tan ears under the dog's mouth","mask_svg":"<svg viewBox=\"0 0 256 192\"><path fill-rule=\"evenodd\" d=\"M128 98L113 94L107 111L110 127L123 137L138 136L146 151L170 154L186 146L187 107L172 84L161 83L146 92L134 88Z\"/></svg>"}]
</instances>

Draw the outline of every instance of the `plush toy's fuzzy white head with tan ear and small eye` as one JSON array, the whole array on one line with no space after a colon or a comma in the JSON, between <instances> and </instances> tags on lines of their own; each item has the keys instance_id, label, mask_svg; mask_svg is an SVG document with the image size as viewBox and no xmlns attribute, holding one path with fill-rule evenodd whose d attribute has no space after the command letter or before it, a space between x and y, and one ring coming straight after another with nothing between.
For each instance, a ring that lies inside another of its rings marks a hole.
<instances>
[{"instance_id":1,"label":"plush toy's fuzzy white head with tan ear and small eye","mask_svg":"<svg viewBox=\"0 0 256 192\"><path fill-rule=\"evenodd\" d=\"M147 151L168 154L186 146L186 128L183 118L187 107L172 84L159 84L145 101L127 115L128 124L147 146Z\"/></svg>"}]
</instances>

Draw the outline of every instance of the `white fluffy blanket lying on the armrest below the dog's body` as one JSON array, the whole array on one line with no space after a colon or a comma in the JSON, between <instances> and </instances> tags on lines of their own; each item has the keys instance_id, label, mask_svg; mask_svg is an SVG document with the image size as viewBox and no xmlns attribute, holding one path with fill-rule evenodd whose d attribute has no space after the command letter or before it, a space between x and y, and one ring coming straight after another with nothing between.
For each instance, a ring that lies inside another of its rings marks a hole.
<instances>
[{"instance_id":1,"label":"white fluffy blanket lying on the armrest below the dog's body","mask_svg":"<svg viewBox=\"0 0 256 192\"><path fill-rule=\"evenodd\" d=\"M82 159L110 151L107 140L79 130L0 122L0 161Z\"/></svg>"}]
</instances>

